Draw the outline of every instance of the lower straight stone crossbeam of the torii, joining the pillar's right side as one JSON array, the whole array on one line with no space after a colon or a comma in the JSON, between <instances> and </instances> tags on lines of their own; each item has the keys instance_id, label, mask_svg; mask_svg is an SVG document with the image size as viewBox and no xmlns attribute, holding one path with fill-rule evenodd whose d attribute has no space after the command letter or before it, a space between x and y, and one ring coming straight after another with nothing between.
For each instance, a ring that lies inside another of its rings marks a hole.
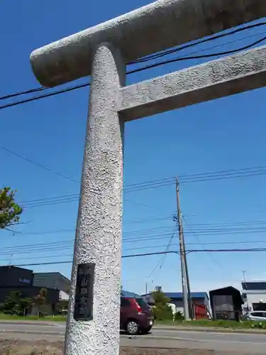
<instances>
[{"instance_id":1,"label":"lower straight stone crossbeam of the torii, joining the pillar's right side","mask_svg":"<svg viewBox=\"0 0 266 355\"><path fill-rule=\"evenodd\" d=\"M123 87L119 110L125 121L131 121L265 86L264 45Z\"/></svg>"}]
</instances>

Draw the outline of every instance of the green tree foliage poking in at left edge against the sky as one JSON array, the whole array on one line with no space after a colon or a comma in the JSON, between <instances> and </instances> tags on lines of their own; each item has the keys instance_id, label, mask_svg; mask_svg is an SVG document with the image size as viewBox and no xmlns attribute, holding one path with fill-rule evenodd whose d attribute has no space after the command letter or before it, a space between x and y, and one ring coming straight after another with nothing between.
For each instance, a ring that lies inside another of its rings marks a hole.
<instances>
[{"instance_id":1,"label":"green tree foliage poking in at left edge against the sky","mask_svg":"<svg viewBox=\"0 0 266 355\"><path fill-rule=\"evenodd\" d=\"M15 202L15 193L10 187L0 189L0 229L19 222L22 208Z\"/></svg>"}]
</instances>

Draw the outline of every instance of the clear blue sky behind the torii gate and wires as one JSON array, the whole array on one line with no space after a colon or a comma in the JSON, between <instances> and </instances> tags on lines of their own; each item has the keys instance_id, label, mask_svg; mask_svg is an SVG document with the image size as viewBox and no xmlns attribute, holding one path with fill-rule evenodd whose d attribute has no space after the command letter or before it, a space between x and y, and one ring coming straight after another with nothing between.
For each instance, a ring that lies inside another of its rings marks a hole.
<instances>
[{"instance_id":1,"label":"clear blue sky behind the torii gate and wires","mask_svg":"<svg viewBox=\"0 0 266 355\"><path fill-rule=\"evenodd\" d=\"M0 96L38 87L29 62L35 48L148 2L46 0L40 6L38 1L3 1ZM264 31L265 27L257 28L179 55L194 51L201 54L204 50L208 53L208 48L209 53L238 48L262 37ZM199 62L165 65L127 80L138 82ZM255 90L126 124L125 184L266 165L265 93L265 89ZM77 180L61 178L0 148L0 185L16 188L19 201L79 193L88 97L88 88L79 89L0 111L1 146ZM180 185L180 197L187 249L266 247L265 232L254 233L256 221L261 221L262 227L266 224L265 175L184 183ZM174 185L125 193L123 255L165 250L175 230L172 221L175 212ZM76 200L25 209L21 222L26 224L17 226L15 234L1 231L0 263L71 260L76 219ZM249 229L242 222L250 222ZM214 229L225 229L233 223L238 233L212 234ZM205 226L200 229L199 224ZM245 233L242 233L243 228ZM206 229L211 231L206 233ZM131 235L137 237L126 241ZM150 239L154 235L157 239ZM247 241L260 241L260 244L241 244ZM206 246L206 242L239 244ZM32 246L45 243L46 247ZM63 248L62 244L69 248ZM177 235L172 244L177 244ZM53 246L49 249L48 245ZM22 249L8 249L13 246L26 247L21 253ZM177 246L171 248L174 250ZM161 256L123 259L123 288L144 293L147 282L148 290L161 285L168 292L180 291L179 257L171 254L163 262L161 259ZM188 256L191 288L209 290L226 285L240 288L243 270L247 271L248 278L266 278L265 268L261 266L263 259L264 253L191 253ZM70 276L71 265L32 268L60 271Z\"/></svg>"}]
</instances>

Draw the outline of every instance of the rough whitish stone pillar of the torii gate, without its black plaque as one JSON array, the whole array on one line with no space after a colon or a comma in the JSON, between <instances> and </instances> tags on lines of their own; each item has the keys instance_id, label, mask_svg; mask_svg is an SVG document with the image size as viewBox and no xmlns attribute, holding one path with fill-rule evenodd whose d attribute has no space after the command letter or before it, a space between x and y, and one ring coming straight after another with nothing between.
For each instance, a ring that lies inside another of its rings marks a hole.
<instances>
[{"instance_id":1,"label":"rough whitish stone pillar of the torii gate, without its black plaque","mask_svg":"<svg viewBox=\"0 0 266 355\"><path fill-rule=\"evenodd\" d=\"M118 355L121 284L123 123L118 116L126 65L102 44L94 55L82 188L74 245L67 355ZM73 319L78 263L96 263L94 319Z\"/></svg>"}]
</instances>

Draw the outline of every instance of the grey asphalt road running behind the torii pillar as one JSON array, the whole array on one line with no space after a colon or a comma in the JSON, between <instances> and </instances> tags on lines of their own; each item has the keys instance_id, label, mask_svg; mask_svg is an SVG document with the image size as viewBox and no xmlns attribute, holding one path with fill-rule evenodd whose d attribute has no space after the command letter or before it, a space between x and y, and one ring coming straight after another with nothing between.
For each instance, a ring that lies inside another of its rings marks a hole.
<instances>
[{"instance_id":1,"label":"grey asphalt road running behind the torii pillar","mask_svg":"<svg viewBox=\"0 0 266 355\"><path fill-rule=\"evenodd\" d=\"M0 323L0 339L48 339L50 341L63 340L65 324L40 322L2 322ZM121 335L121 345L208 349L217 351L240 351L241 354L265 354L266 334L225 334L211 332L188 332L179 329L155 328L148 335L128 337Z\"/></svg>"}]
</instances>

